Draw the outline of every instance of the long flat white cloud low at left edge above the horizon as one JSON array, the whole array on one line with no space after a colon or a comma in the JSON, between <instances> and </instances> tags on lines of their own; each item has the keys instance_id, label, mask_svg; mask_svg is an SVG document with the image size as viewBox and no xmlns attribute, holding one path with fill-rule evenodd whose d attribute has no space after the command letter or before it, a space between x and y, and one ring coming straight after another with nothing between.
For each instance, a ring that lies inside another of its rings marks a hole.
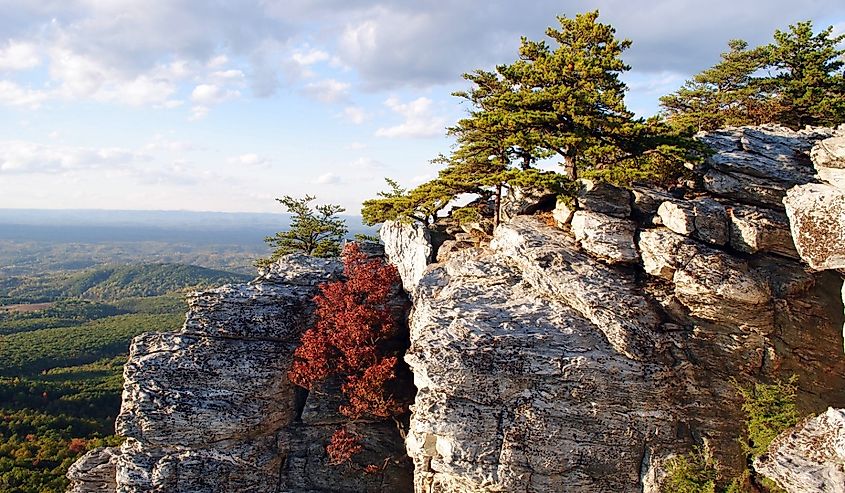
<instances>
[{"instance_id":1,"label":"long flat white cloud low at left edge above the horizon","mask_svg":"<svg viewBox=\"0 0 845 493\"><path fill-rule=\"evenodd\" d=\"M74 147L35 142L0 142L0 173L66 173L86 169L119 168L150 160L119 147Z\"/></svg>"}]
</instances>

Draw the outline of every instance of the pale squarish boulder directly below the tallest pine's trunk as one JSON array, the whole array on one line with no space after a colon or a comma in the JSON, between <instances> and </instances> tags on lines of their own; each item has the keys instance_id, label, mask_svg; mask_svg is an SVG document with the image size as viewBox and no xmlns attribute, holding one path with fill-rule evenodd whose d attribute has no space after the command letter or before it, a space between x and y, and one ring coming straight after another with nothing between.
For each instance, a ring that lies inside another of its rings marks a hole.
<instances>
[{"instance_id":1,"label":"pale squarish boulder directly below the tallest pine's trunk","mask_svg":"<svg viewBox=\"0 0 845 493\"><path fill-rule=\"evenodd\" d=\"M581 247L610 263L639 260L634 244L637 226L633 221L592 211L578 211L572 217L572 232Z\"/></svg>"}]
</instances>

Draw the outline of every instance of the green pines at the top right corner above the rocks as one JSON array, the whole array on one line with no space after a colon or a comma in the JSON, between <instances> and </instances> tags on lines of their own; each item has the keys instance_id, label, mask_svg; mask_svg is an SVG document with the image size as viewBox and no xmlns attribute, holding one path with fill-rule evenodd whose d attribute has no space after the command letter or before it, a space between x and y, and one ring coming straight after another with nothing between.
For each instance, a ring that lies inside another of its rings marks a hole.
<instances>
[{"instance_id":1,"label":"green pines at the top right corner above the rocks","mask_svg":"<svg viewBox=\"0 0 845 493\"><path fill-rule=\"evenodd\" d=\"M792 128L845 120L845 73L832 27L813 34L811 22L775 31L774 41L749 49L728 43L721 61L660 99L678 129L715 130L727 125L777 122Z\"/></svg>"}]
</instances>

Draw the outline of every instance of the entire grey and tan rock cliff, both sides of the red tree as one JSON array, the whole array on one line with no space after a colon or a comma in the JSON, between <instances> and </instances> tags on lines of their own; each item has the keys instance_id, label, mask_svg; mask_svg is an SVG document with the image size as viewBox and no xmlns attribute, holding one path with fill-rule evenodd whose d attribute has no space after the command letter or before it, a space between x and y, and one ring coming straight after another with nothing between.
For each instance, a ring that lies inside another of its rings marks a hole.
<instances>
[{"instance_id":1,"label":"entire grey and tan rock cliff, both sides of the red tree","mask_svg":"<svg viewBox=\"0 0 845 493\"><path fill-rule=\"evenodd\" d=\"M736 386L793 374L803 413L834 409L779 438L759 470L790 492L839 491L808 484L841 481L843 133L703 135L716 152L696 186L585 183L578 210L548 217L534 213L553 197L513 193L488 237L386 224L413 300L417 395L404 443L392 423L360 426L367 454L404 447L413 478L401 463L374 476L327 465L334 397L300 395L286 371L339 264L291 257L193 294L180 332L133 342L126 442L78 461L71 491L653 493L696 445L740 474ZM821 435L825 452L808 454Z\"/></svg>"}]
</instances>

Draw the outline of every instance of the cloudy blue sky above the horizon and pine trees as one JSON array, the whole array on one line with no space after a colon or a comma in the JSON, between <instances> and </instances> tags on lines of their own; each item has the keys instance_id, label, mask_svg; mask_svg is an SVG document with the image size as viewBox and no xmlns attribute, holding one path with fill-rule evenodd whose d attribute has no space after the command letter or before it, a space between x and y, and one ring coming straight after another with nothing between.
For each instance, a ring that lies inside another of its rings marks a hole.
<instances>
[{"instance_id":1,"label":"cloudy blue sky above the horizon and pine trees","mask_svg":"<svg viewBox=\"0 0 845 493\"><path fill-rule=\"evenodd\" d=\"M357 214L436 175L461 74L592 9L641 116L729 39L845 32L842 0L0 0L0 208Z\"/></svg>"}]
</instances>

